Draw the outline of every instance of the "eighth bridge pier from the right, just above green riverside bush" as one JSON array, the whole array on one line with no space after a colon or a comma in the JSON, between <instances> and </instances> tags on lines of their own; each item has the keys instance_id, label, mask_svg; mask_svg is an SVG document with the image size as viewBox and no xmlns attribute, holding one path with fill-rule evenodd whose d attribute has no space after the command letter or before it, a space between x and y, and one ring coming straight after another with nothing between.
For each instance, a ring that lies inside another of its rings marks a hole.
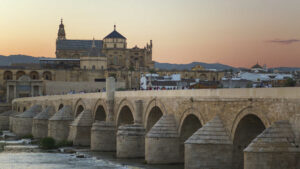
<instances>
[{"instance_id":1,"label":"eighth bridge pier from the right, just above green riverside bush","mask_svg":"<svg viewBox=\"0 0 300 169\"><path fill-rule=\"evenodd\" d=\"M32 135L34 138L45 138L48 136L48 120L54 113L54 107L48 106L33 118Z\"/></svg>"}]
</instances>

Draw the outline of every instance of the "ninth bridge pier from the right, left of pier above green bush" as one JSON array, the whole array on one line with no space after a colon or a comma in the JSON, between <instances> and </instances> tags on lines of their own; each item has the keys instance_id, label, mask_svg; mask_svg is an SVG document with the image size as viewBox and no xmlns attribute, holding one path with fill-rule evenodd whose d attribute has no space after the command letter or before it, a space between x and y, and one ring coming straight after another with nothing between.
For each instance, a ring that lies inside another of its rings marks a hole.
<instances>
[{"instance_id":1,"label":"ninth bridge pier from the right, left of pier above green bush","mask_svg":"<svg viewBox=\"0 0 300 169\"><path fill-rule=\"evenodd\" d=\"M17 115L13 124L13 132L19 137L32 134L32 118L41 111L41 105L33 105L27 111Z\"/></svg>"}]
</instances>

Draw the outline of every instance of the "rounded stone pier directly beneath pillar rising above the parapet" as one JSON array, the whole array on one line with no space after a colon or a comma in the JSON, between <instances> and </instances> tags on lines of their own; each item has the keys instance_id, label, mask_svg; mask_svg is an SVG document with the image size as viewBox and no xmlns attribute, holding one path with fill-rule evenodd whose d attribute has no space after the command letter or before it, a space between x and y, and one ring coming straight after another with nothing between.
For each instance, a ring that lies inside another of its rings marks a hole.
<instances>
[{"instance_id":1,"label":"rounded stone pier directly beneath pillar rising above the parapet","mask_svg":"<svg viewBox=\"0 0 300 169\"><path fill-rule=\"evenodd\" d=\"M113 122L97 121L91 130L92 151L116 151L116 125Z\"/></svg>"}]
</instances>

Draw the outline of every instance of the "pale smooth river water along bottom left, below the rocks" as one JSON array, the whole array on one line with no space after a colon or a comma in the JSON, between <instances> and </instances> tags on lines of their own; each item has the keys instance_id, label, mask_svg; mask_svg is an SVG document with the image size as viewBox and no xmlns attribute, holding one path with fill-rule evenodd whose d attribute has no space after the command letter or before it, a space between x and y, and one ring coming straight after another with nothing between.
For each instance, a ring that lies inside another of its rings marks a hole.
<instances>
[{"instance_id":1,"label":"pale smooth river water along bottom left, below the rocks","mask_svg":"<svg viewBox=\"0 0 300 169\"><path fill-rule=\"evenodd\" d=\"M1 152L0 169L183 169L183 165L147 165L143 159L116 159L112 153L75 154Z\"/></svg>"}]
</instances>

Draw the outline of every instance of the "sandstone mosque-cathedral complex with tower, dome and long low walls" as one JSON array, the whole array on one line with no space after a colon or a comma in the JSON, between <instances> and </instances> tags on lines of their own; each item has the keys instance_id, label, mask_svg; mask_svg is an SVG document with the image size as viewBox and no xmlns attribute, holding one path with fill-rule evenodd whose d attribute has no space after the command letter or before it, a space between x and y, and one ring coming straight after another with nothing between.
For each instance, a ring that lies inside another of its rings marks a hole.
<instances>
[{"instance_id":1,"label":"sandstone mosque-cathedral complex with tower, dome and long low walls","mask_svg":"<svg viewBox=\"0 0 300 169\"><path fill-rule=\"evenodd\" d=\"M96 92L105 88L105 79L113 76L117 88L140 88L140 79L147 73L160 76L180 74L183 79L219 81L222 71L159 70L152 60L153 43L144 48L127 47L126 37L114 30L103 40L72 40L66 37L63 21L56 40L56 58L40 59L39 64L0 67L0 102L40 95Z\"/></svg>"}]
</instances>

